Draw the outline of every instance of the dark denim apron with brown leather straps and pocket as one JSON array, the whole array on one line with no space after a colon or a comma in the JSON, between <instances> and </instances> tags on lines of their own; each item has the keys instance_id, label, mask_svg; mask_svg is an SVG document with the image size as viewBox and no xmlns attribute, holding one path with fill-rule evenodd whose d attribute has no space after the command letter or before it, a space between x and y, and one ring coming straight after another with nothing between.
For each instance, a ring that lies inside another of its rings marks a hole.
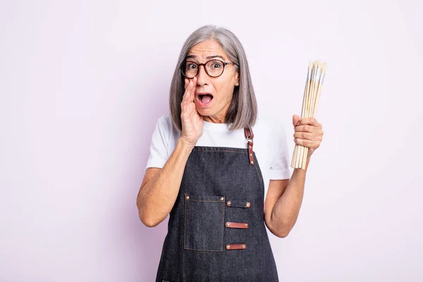
<instances>
[{"instance_id":1,"label":"dark denim apron with brown leather straps and pocket","mask_svg":"<svg viewBox=\"0 0 423 282\"><path fill-rule=\"evenodd\" d=\"M157 282L278 281L264 225L264 181L246 148L192 149L168 221Z\"/></svg>"}]
</instances>

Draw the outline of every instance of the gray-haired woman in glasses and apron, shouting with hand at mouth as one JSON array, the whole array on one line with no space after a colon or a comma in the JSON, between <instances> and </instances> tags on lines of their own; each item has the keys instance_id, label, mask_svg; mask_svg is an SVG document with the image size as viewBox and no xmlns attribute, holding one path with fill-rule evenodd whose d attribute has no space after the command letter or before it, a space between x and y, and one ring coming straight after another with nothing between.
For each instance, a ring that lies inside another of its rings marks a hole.
<instances>
[{"instance_id":1,"label":"gray-haired woman in glasses and apron, shouting with hand at mouth","mask_svg":"<svg viewBox=\"0 0 423 282\"><path fill-rule=\"evenodd\" d=\"M298 217L305 170L290 177L282 125L257 118L243 46L224 28L200 27L183 44L157 122L139 216L157 226L170 214L156 281L278 281L266 226L286 237ZM295 144L323 132L293 116Z\"/></svg>"}]
</instances>

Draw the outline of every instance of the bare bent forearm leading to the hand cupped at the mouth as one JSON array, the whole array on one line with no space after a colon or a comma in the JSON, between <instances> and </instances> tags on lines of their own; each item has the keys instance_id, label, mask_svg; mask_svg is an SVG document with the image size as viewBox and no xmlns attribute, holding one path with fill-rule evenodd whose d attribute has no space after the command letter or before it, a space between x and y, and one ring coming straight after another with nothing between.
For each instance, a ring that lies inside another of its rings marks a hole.
<instances>
[{"instance_id":1,"label":"bare bent forearm leading to the hand cupped at the mouth","mask_svg":"<svg viewBox=\"0 0 423 282\"><path fill-rule=\"evenodd\" d=\"M171 212L191 151L192 146L179 139L161 171L141 188L137 207L140 219L146 226L157 226Z\"/></svg>"}]
</instances>

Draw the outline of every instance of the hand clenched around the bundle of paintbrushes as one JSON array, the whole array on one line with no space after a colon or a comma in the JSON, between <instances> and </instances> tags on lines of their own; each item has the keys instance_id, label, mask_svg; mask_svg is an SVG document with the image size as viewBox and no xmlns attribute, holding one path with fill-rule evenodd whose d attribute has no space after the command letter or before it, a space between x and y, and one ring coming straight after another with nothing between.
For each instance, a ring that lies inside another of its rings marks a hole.
<instances>
[{"instance_id":1,"label":"hand clenched around the bundle of paintbrushes","mask_svg":"<svg viewBox=\"0 0 423 282\"><path fill-rule=\"evenodd\" d=\"M295 144L308 147L307 157L310 157L319 148L323 138L321 124L317 122L316 118L300 118L300 116L294 115L293 125Z\"/></svg>"}]
</instances>

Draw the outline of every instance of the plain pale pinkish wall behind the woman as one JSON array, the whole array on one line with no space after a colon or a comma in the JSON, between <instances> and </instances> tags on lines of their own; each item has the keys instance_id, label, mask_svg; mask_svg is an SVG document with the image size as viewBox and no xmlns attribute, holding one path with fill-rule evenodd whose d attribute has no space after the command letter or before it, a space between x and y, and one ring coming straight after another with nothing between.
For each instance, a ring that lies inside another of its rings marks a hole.
<instances>
[{"instance_id":1,"label":"plain pale pinkish wall behind the woman","mask_svg":"<svg viewBox=\"0 0 423 282\"><path fill-rule=\"evenodd\" d=\"M328 62L281 281L422 281L422 1L3 1L0 281L154 281L166 222L135 198L190 32L247 51L259 111L289 133Z\"/></svg>"}]
</instances>

